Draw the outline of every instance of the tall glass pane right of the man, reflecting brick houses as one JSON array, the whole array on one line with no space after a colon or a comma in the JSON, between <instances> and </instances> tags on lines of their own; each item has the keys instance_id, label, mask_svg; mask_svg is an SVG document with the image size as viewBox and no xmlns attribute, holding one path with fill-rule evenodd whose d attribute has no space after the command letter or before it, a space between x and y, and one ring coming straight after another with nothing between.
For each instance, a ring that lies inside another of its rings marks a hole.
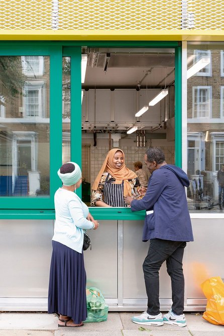
<instances>
[{"instance_id":1,"label":"tall glass pane right of the man, reflecting brick houses","mask_svg":"<svg viewBox=\"0 0 224 336\"><path fill-rule=\"evenodd\" d=\"M188 43L187 196L192 211L220 212L224 208L222 50L218 43ZM192 66L197 72L192 73Z\"/></svg>"}]
</instances>

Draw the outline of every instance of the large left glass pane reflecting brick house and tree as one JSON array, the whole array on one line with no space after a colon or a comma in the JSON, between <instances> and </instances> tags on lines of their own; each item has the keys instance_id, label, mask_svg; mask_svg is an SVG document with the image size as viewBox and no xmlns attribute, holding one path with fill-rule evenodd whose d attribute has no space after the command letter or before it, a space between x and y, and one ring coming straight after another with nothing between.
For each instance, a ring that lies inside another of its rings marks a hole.
<instances>
[{"instance_id":1,"label":"large left glass pane reflecting brick house and tree","mask_svg":"<svg viewBox=\"0 0 224 336\"><path fill-rule=\"evenodd\" d=\"M49 57L0 57L2 197L49 197L49 70Z\"/></svg>"}]
</instances>

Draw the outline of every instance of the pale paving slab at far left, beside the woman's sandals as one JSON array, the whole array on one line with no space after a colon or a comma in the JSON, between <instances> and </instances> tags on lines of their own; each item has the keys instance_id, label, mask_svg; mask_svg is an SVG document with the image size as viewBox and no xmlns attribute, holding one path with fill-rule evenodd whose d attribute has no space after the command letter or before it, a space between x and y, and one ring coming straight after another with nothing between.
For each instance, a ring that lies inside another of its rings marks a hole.
<instances>
[{"instance_id":1,"label":"pale paving slab at far left, beside the woman's sandals","mask_svg":"<svg viewBox=\"0 0 224 336\"><path fill-rule=\"evenodd\" d=\"M56 330L57 320L47 313L1 313L0 329Z\"/></svg>"}]
</instances>

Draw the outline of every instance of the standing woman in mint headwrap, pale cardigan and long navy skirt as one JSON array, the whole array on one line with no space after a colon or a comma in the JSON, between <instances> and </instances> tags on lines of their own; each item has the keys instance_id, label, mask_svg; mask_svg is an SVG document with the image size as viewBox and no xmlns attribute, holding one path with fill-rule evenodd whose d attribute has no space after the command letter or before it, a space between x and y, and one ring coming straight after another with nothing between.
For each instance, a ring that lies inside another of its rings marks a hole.
<instances>
[{"instance_id":1,"label":"standing woman in mint headwrap, pale cardigan and long navy skirt","mask_svg":"<svg viewBox=\"0 0 224 336\"><path fill-rule=\"evenodd\" d=\"M58 326L82 326L87 317L83 229L99 224L74 193L82 183L77 163L67 162L58 171L63 185L54 196L55 227L52 238L48 313L57 313Z\"/></svg>"}]
</instances>

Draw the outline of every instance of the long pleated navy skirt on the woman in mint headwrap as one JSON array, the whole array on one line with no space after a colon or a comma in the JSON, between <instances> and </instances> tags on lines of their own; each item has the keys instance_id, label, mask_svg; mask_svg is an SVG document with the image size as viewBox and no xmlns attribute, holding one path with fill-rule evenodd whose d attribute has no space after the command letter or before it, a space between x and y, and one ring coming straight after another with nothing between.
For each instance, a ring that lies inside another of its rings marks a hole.
<instances>
[{"instance_id":1,"label":"long pleated navy skirt on the woman in mint headwrap","mask_svg":"<svg viewBox=\"0 0 224 336\"><path fill-rule=\"evenodd\" d=\"M78 324L87 317L83 253L52 240L48 313L69 316Z\"/></svg>"}]
</instances>

